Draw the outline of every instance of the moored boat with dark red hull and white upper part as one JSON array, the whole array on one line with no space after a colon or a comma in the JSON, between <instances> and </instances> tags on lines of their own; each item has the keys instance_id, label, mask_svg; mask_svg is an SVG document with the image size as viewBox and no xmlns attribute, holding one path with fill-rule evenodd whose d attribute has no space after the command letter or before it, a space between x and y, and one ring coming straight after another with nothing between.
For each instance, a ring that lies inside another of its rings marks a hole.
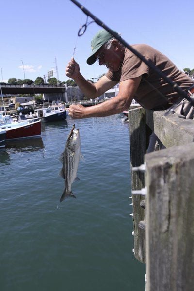
<instances>
[{"instance_id":1,"label":"moored boat with dark red hull and white upper part","mask_svg":"<svg viewBox=\"0 0 194 291\"><path fill-rule=\"evenodd\" d=\"M19 116L20 117L20 116ZM41 135L41 121L27 120L20 117L13 121L10 115L0 114L0 130L6 131L6 139L37 137Z\"/></svg>"}]
</instances>

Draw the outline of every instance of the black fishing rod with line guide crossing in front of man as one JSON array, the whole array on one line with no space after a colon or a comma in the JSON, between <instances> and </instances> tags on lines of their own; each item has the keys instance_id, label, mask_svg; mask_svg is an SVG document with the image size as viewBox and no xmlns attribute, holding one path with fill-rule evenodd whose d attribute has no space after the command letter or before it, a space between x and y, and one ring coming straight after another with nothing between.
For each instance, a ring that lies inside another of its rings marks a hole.
<instances>
[{"instance_id":1,"label":"black fishing rod with line guide crossing in front of man","mask_svg":"<svg viewBox=\"0 0 194 291\"><path fill-rule=\"evenodd\" d=\"M180 88L178 86L177 83L173 82L169 77L167 77L159 68L157 68L152 63L152 61L146 60L146 58L141 53L139 53L136 49L131 47L120 35L118 35L116 32L114 32L112 29L110 29L104 22L102 22L99 18L97 18L94 14L92 14L88 9L86 9L78 1L76 1L76 0L70 0L70 1L73 2L76 6L78 6L83 11L83 13L85 13L87 15L87 19L89 16L94 20L94 21L87 22L87 19L86 19L86 23L83 26L81 26L80 30L78 31L78 36L81 36L84 34L84 32L86 31L86 28L89 24L91 24L92 22L96 22L99 26L101 26L107 32L112 34L113 37L115 39L117 39L120 43L122 43L126 48L128 48L130 51L132 51L132 53L134 53L146 65L148 65L151 69L153 69L155 72L157 72L159 74L159 76L161 76L163 78L163 80L167 81L167 83L169 83L174 88L174 90L178 92L178 94L182 97L182 99L183 98L187 99L194 106L194 99L189 97L187 95L187 93L185 91L183 91L182 88Z\"/></svg>"}]
</instances>

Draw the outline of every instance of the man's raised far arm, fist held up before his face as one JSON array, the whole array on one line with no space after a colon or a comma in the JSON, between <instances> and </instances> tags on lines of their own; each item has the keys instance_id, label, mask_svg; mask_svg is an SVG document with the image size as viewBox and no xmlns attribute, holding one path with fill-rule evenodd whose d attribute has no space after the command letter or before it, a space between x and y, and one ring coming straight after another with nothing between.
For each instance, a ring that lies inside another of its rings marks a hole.
<instances>
[{"instance_id":1,"label":"man's raised far arm, fist held up before his face","mask_svg":"<svg viewBox=\"0 0 194 291\"><path fill-rule=\"evenodd\" d=\"M71 59L66 67L66 75L73 78L83 94L89 98L95 99L102 95L105 91L113 88L117 82L109 80L106 76L102 76L96 83L87 81L80 73L80 66L74 58Z\"/></svg>"}]
</instances>

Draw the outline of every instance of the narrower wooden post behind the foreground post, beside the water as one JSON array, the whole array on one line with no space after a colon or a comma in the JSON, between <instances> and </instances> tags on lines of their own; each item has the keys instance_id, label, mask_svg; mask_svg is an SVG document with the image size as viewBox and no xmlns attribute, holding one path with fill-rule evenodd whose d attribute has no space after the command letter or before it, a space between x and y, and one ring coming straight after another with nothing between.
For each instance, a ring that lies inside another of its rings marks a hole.
<instances>
[{"instance_id":1,"label":"narrower wooden post behind the foreground post, beside the water","mask_svg":"<svg viewBox=\"0 0 194 291\"><path fill-rule=\"evenodd\" d=\"M129 110L129 135L130 135L130 166L132 190L140 190L144 187L144 174L132 171L144 163L146 153L146 111L143 108ZM145 219L144 210L140 201L141 195L132 195L133 204L133 228L134 228L134 255L140 262L146 262L146 238L145 231L138 227L139 221Z\"/></svg>"}]
</instances>

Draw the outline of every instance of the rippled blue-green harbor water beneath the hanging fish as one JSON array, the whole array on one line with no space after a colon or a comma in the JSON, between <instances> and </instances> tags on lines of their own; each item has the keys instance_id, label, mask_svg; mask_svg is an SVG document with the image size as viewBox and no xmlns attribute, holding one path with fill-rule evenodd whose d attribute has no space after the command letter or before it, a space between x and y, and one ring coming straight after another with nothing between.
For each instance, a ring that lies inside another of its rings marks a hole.
<instances>
[{"instance_id":1,"label":"rippled blue-green harbor water beneath the hanging fish","mask_svg":"<svg viewBox=\"0 0 194 291\"><path fill-rule=\"evenodd\" d=\"M75 123L84 161L72 192L59 156ZM129 124L121 114L42 124L0 150L0 291L145 291L134 258Z\"/></svg>"}]
</instances>

